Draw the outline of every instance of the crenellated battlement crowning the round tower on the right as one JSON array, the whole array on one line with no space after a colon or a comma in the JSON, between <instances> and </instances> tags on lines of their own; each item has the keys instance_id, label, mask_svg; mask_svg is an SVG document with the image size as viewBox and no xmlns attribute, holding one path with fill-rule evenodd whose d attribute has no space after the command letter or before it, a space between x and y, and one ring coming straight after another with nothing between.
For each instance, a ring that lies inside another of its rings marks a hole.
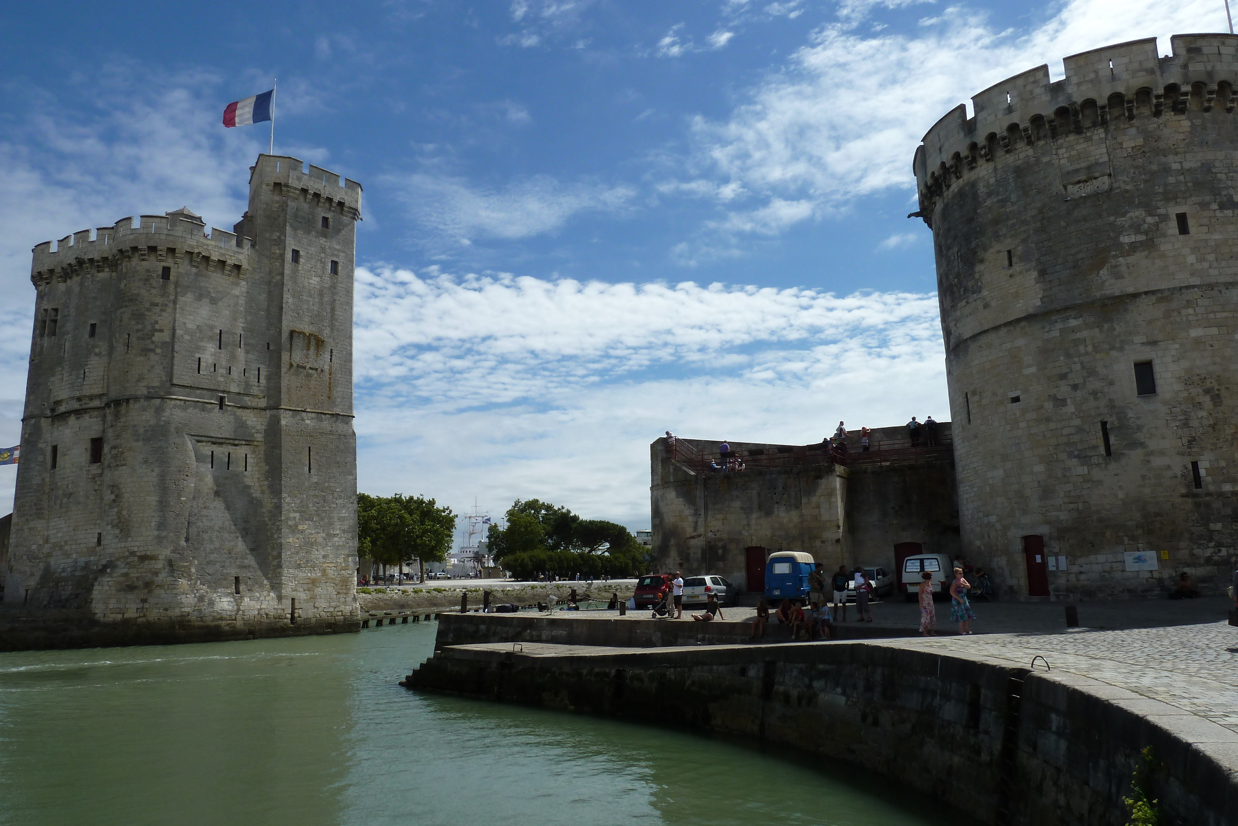
<instances>
[{"instance_id":1,"label":"crenellated battlement crowning the round tower on the right","mask_svg":"<svg viewBox=\"0 0 1238 826\"><path fill-rule=\"evenodd\" d=\"M1232 114L1238 103L1238 36L1175 35L1160 57L1156 38L1104 46L1063 58L1066 77L1047 64L1015 74L959 104L925 134L912 170L920 214L931 225L937 199L968 170L1042 140L1187 109ZM1083 185L1087 170L1078 171Z\"/></svg>"}]
</instances>

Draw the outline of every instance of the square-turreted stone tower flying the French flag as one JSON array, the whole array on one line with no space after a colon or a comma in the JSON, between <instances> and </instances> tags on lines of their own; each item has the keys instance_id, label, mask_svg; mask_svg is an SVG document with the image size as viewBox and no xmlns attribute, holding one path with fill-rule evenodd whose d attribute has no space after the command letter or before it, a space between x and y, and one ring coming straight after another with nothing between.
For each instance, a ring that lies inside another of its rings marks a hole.
<instances>
[{"instance_id":1,"label":"square-turreted stone tower flying the French flag","mask_svg":"<svg viewBox=\"0 0 1238 826\"><path fill-rule=\"evenodd\" d=\"M261 155L234 233L188 209L33 250L4 599L141 639L358 627L361 187Z\"/></svg>"}]
</instances>

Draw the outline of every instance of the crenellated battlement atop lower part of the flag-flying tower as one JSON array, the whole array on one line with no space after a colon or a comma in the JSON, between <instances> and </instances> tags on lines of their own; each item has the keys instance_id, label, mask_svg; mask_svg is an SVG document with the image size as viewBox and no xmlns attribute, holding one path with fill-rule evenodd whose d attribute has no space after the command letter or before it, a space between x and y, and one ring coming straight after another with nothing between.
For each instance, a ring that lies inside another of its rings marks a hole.
<instances>
[{"instance_id":1,"label":"crenellated battlement atop lower part of the flag-flying tower","mask_svg":"<svg viewBox=\"0 0 1238 826\"><path fill-rule=\"evenodd\" d=\"M249 270L251 238L213 227L207 234L199 215L182 207L162 215L132 215L111 227L83 229L56 241L36 244L31 260L35 286L66 280L84 272L111 272L126 260L188 261L206 270L232 271L244 277Z\"/></svg>"}]
</instances>

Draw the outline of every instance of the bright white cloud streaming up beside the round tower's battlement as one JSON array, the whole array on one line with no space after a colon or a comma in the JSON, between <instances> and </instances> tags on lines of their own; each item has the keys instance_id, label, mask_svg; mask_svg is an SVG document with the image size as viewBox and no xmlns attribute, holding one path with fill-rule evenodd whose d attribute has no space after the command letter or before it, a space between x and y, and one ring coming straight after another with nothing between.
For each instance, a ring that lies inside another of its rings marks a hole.
<instances>
[{"instance_id":1,"label":"bright white cloud streaming up beside the round tower's battlement","mask_svg":"<svg viewBox=\"0 0 1238 826\"><path fill-rule=\"evenodd\" d=\"M692 121L697 177L716 181L718 191L738 183L747 194L692 243L717 246L719 232L779 232L869 194L910 189L911 157L925 131L1003 78L1046 62L1056 78L1067 54L1153 33L1167 51L1171 33L1226 25L1224 10L1207 0L1067 0L1023 33L999 31L966 6L945 9L914 33L854 27L877 6L911 2L846 0L844 21L816 30L729 118ZM794 214L787 204L796 204Z\"/></svg>"}]
</instances>

